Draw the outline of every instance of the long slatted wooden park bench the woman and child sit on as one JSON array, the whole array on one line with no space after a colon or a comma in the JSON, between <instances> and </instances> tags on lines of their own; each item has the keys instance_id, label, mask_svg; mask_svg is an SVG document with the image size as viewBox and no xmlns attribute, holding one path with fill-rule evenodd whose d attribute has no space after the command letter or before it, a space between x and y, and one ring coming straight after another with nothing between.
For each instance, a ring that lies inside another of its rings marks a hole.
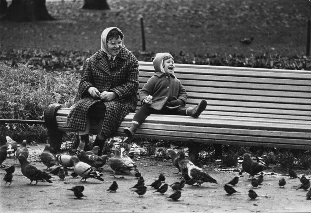
<instances>
[{"instance_id":1,"label":"long slatted wooden park bench the woman and child sit on","mask_svg":"<svg viewBox=\"0 0 311 213\"><path fill-rule=\"evenodd\" d=\"M139 62L139 70L141 89L154 68ZM199 118L152 114L135 137L189 142L192 160L197 143L311 149L311 71L176 64L174 74L188 92L186 106L205 99L206 110ZM77 131L67 127L70 110L51 104L45 111L55 149L63 132ZM124 118L117 135L125 136L133 116ZM91 133L96 132L92 123Z\"/></svg>"}]
</instances>

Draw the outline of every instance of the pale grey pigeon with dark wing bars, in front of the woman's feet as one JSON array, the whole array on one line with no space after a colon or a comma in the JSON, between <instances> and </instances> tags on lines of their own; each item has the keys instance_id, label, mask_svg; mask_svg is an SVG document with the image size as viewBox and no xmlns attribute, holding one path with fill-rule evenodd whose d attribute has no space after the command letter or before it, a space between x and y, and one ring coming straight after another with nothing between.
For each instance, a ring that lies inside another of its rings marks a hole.
<instances>
[{"instance_id":1,"label":"pale grey pigeon with dark wing bars, in front of the woman's feet","mask_svg":"<svg viewBox=\"0 0 311 213\"><path fill-rule=\"evenodd\" d=\"M84 182L86 182L87 178L96 178L100 181L104 181L104 179L101 178L103 174L97 172L89 164L80 161L75 155L73 155L71 159L73 161L73 171L82 177L81 181L84 179Z\"/></svg>"}]
</instances>

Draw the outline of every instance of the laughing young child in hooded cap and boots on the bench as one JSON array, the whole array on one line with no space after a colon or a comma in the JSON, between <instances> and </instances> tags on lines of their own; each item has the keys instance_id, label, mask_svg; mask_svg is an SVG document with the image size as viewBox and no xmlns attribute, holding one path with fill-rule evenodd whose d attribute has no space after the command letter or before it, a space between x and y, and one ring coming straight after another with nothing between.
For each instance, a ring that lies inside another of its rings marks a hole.
<instances>
[{"instance_id":1,"label":"laughing young child in hooded cap and boots on the bench","mask_svg":"<svg viewBox=\"0 0 311 213\"><path fill-rule=\"evenodd\" d=\"M150 114L188 115L194 118L206 108L206 100L196 107L185 107L187 92L180 81L174 76L174 58L169 53L157 53L152 61L155 74L143 86L139 93L142 106L134 115L130 127L124 132L133 137L137 128Z\"/></svg>"}]
</instances>

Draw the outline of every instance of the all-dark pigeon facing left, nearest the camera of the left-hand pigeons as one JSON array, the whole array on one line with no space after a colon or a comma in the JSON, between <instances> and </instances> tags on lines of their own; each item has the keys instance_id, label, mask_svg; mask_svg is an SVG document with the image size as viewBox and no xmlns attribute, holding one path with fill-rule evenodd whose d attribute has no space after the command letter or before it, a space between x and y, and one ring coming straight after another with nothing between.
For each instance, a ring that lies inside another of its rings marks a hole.
<instances>
[{"instance_id":1,"label":"all-dark pigeon facing left, nearest the camera of the left-hand pigeons","mask_svg":"<svg viewBox=\"0 0 311 213\"><path fill-rule=\"evenodd\" d=\"M19 162L21 163L21 173L30 179L29 185L35 181L34 185L37 185L38 180L43 180L48 183L53 183L50 179L52 178L51 175L47 174L46 172L42 172L41 170L37 169L37 167L31 165L24 154L21 154L18 157Z\"/></svg>"}]
</instances>

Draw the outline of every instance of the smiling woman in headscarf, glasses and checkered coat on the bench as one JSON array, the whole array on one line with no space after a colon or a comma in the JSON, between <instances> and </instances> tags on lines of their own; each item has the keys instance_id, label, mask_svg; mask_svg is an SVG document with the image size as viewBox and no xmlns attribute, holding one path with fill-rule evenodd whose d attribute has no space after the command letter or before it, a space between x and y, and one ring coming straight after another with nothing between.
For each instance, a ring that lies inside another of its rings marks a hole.
<instances>
[{"instance_id":1,"label":"smiling woman in headscarf, glasses and checkered coat on the bench","mask_svg":"<svg viewBox=\"0 0 311 213\"><path fill-rule=\"evenodd\" d=\"M99 123L94 146L101 155L104 141L111 137L123 118L137 105L138 61L125 48L123 33L117 27L101 34L101 49L83 65L78 101L68 115L68 125L78 129L79 147L87 149L90 118Z\"/></svg>"}]
</instances>

